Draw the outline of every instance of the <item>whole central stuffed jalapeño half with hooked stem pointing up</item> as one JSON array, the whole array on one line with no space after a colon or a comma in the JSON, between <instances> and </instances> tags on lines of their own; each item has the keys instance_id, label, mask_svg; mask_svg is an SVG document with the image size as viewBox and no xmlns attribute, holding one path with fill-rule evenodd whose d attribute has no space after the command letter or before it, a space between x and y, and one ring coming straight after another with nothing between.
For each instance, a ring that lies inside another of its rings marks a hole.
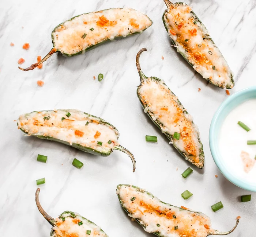
<instances>
[{"instance_id":1,"label":"whole central stuffed jalape\u00f1o half with hooked stem pointing up","mask_svg":"<svg viewBox=\"0 0 256 237\"><path fill-rule=\"evenodd\" d=\"M199 137L199 129L193 123L193 117L163 80L144 75L140 68L139 58L146 50L146 48L142 48L136 57L140 76L137 95L144 112L186 160L202 169L204 167L204 151Z\"/></svg>"}]
</instances>

